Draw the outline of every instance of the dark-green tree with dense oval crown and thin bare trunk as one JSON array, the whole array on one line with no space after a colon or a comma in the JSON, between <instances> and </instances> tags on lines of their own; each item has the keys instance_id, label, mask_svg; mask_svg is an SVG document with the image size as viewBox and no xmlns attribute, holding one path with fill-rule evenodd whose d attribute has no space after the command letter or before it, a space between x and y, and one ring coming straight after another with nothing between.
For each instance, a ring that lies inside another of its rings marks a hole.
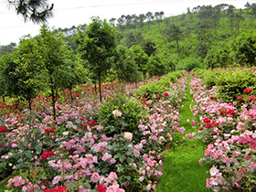
<instances>
[{"instance_id":1,"label":"dark-green tree with dense oval crown and thin bare trunk","mask_svg":"<svg viewBox=\"0 0 256 192\"><path fill-rule=\"evenodd\" d=\"M101 100L101 76L111 69L112 57L116 48L115 29L110 27L106 20L93 18L87 30L80 32L77 37L78 52L81 59L87 62L94 77L99 80Z\"/></svg>"}]
</instances>

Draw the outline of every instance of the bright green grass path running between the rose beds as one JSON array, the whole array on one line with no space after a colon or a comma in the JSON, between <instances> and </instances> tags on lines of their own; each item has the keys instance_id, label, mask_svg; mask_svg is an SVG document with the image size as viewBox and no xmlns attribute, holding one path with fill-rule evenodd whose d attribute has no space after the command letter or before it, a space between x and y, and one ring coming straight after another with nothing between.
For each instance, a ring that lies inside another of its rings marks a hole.
<instances>
[{"instance_id":1,"label":"bright green grass path running between the rose beds","mask_svg":"<svg viewBox=\"0 0 256 192\"><path fill-rule=\"evenodd\" d=\"M188 77L188 84L190 77ZM184 126L184 134L175 133L170 151L165 154L164 173L158 186L158 192L204 192L206 187L208 167L199 165L198 161L204 155L204 147L200 140L183 139L187 133L196 132L187 119L192 120L190 111L192 95L187 86L187 99L182 102L184 108L180 109L180 124Z\"/></svg>"}]
</instances>

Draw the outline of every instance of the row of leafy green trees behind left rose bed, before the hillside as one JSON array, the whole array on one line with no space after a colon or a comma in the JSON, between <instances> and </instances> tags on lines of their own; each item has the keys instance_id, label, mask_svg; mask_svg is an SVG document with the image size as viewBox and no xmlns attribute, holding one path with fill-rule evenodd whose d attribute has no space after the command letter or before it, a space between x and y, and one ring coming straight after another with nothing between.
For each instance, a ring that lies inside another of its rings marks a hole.
<instances>
[{"instance_id":1,"label":"row of leafy green trees behind left rose bed, before the hillside","mask_svg":"<svg viewBox=\"0 0 256 192\"><path fill-rule=\"evenodd\" d=\"M159 69L155 45L117 45L117 31L106 20L92 19L86 30L79 30L77 54L69 48L62 33L43 25L37 37L24 37L16 50L0 58L0 94L31 104L38 94L51 98L53 115L59 91L83 83L111 80L137 81L146 75L159 76L172 70Z\"/></svg>"}]
</instances>

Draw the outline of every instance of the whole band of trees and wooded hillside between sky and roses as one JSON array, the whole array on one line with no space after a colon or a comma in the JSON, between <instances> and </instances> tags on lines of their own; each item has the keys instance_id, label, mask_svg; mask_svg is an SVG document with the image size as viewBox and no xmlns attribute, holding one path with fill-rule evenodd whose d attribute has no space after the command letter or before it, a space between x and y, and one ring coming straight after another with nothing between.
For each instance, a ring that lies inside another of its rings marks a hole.
<instances>
[{"instance_id":1,"label":"whole band of trees and wooded hillside between sky and roses","mask_svg":"<svg viewBox=\"0 0 256 192\"><path fill-rule=\"evenodd\" d=\"M246 12L233 5L197 6L180 16L147 20L150 26L134 25L130 16L121 16L125 23L115 27L98 17L79 27L43 26L37 37L4 47L12 53L0 59L0 94L23 98L31 109L38 93L50 96L54 106L58 91L82 83L98 83L101 100L102 81L136 81L175 69L255 65L256 35L247 29L253 26L254 6L247 3Z\"/></svg>"}]
</instances>

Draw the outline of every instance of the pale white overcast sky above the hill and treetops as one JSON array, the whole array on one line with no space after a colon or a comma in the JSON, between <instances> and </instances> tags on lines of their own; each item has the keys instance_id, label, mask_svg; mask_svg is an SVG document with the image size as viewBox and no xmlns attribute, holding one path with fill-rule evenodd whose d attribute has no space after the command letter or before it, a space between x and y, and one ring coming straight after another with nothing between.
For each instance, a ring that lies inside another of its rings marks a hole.
<instances>
[{"instance_id":1,"label":"pale white overcast sky above the hill and treetops","mask_svg":"<svg viewBox=\"0 0 256 192\"><path fill-rule=\"evenodd\" d=\"M101 19L119 18L124 15L146 14L163 11L165 16L176 16L187 13L197 5L219 5L222 3L244 8L246 2L256 0L48 0L54 4L54 17L48 20L48 26L65 28L91 23L91 16ZM39 25L24 22L22 16L16 16L13 9L7 8L7 0L0 0L0 45L19 42L19 39L30 34L39 33Z\"/></svg>"}]
</instances>

